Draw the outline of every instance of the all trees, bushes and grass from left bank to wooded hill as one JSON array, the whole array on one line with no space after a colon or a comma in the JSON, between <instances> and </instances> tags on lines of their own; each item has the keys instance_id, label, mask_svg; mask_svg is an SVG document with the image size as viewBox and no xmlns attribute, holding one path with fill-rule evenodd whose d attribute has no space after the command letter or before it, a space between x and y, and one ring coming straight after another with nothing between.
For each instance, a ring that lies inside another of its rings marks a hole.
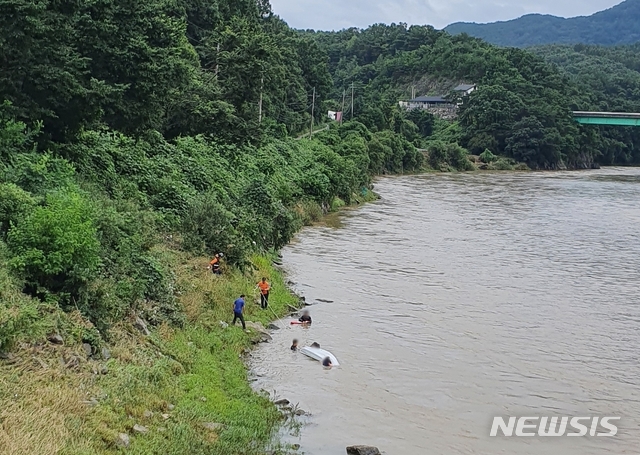
<instances>
[{"instance_id":1,"label":"all trees, bushes and grass from left bank to wooded hill","mask_svg":"<svg viewBox=\"0 0 640 455\"><path fill-rule=\"evenodd\" d=\"M297 32L262 0L8 0L0 25L8 453L264 453L282 418L247 382L256 334L220 321L261 276L276 313L297 302L270 258L299 228L377 174L585 167L607 134L542 59L430 27ZM397 108L464 79L456 122ZM351 82L352 121L292 139L314 87L319 123Z\"/></svg>"}]
</instances>

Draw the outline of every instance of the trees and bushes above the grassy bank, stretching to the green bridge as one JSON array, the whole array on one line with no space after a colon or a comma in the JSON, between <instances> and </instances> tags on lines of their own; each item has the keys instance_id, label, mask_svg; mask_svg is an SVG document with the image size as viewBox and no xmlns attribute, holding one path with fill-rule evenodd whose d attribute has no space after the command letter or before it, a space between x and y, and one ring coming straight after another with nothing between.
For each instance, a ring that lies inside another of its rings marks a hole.
<instances>
[{"instance_id":1,"label":"trees and bushes above the grassy bank, stretching to the green bridge","mask_svg":"<svg viewBox=\"0 0 640 455\"><path fill-rule=\"evenodd\" d=\"M572 120L595 79L431 27L297 31L265 0L6 0L0 65L0 347L56 309L98 337L132 309L179 325L163 248L243 267L376 174L638 159ZM459 82L480 88L454 122L398 106ZM343 100L348 121L294 139Z\"/></svg>"}]
</instances>

